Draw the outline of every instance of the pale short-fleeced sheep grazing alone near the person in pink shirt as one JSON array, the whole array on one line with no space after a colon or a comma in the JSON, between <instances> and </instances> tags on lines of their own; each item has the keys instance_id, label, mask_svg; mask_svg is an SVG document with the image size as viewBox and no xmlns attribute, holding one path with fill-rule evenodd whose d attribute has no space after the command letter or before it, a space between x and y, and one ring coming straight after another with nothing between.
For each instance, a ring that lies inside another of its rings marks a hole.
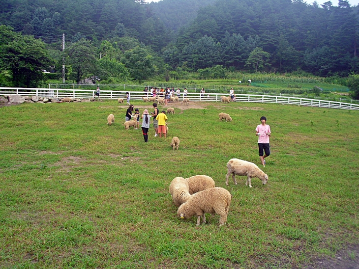
<instances>
[{"instance_id":1,"label":"pale short-fleeced sheep grazing alone near the person in pink shirt","mask_svg":"<svg viewBox=\"0 0 359 269\"><path fill-rule=\"evenodd\" d=\"M228 178L232 174L233 182L237 185L235 176L247 176L247 181L245 186L249 185L249 188L252 188L250 184L251 178L257 177L262 180L263 185L267 184L268 175L265 174L257 165L253 162L243 161L239 159L231 159L227 162L227 175L226 175L226 185L228 186Z\"/></svg>"}]
</instances>

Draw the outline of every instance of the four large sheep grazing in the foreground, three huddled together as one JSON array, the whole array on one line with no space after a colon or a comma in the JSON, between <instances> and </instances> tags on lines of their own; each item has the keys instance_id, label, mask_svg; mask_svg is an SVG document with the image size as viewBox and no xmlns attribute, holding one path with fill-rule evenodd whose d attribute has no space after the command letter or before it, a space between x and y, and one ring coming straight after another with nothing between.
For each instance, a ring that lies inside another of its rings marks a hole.
<instances>
[{"instance_id":1,"label":"four large sheep grazing in the foreground, three huddled together","mask_svg":"<svg viewBox=\"0 0 359 269\"><path fill-rule=\"evenodd\" d=\"M234 183L236 175L247 176L247 182L252 188L251 178L258 177L263 185L267 184L268 175L265 174L256 164L239 159L231 159L227 162L226 185L228 178L232 174ZM197 216L196 225L206 223L206 213L219 215L219 226L227 222L229 207L232 195L225 188L215 187L214 180L206 175L197 175L190 178L176 177L170 184L170 194L176 206L177 215L180 218L190 218Z\"/></svg>"}]
</instances>

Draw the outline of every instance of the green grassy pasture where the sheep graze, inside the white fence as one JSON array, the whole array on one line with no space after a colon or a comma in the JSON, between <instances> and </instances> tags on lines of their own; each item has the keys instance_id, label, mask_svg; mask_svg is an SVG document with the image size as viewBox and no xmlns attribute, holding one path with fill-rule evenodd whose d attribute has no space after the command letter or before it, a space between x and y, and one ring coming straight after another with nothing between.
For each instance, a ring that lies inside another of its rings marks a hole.
<instances>
[{"instance_id":1,"label":"green grassy pasture where the sheep graze, inside the white fence","mask_svg":"<svg viewBox=\"0 0 359 269\"><path fill-rule=\"evenodd\" d=\"M134 102L135 108L151 108ZM358 111L254 103L174 106L144 143L116 101L0 108L0 268L302 268L359 242ZM160 106L160 110L162 106ZM219 122L218 113L232 122ZM115 123L107 125L107 115ZM263 168L255 128L265 115ZM178 151L169 144L178 136ZM255 162L267 185L238 177ZM205 174L233 198L228 223L177 217L168 187Z\"/></svg>"}]
</instances>

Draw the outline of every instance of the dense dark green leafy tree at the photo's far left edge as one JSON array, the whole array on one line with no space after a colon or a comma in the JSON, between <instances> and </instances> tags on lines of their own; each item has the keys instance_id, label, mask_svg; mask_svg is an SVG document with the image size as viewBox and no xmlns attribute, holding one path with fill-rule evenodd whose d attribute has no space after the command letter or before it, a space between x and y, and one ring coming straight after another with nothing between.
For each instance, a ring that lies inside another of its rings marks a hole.
<instances>
[{"instance_id":1,"label":"dense dark green leafy tree at the photo's far left edge","mask_svg":"<svg viewBox=\"0 0 359 269\"><path fill-rule=\"evenodd\" d=\"M12 86L37 86L44 79L41 69L47 69L50 62L41 40L0 26L0 72L9 74Z\"/></svg>"}]
</instances>

